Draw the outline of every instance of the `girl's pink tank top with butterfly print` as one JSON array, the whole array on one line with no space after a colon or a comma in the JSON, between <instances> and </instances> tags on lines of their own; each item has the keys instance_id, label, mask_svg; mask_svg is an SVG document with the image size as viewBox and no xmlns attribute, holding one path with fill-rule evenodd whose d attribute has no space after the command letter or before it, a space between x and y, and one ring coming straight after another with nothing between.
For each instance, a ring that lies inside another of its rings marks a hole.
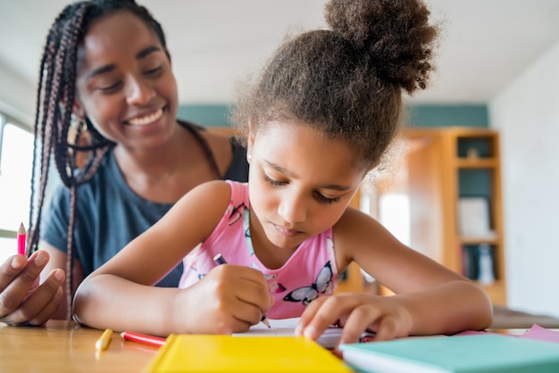
<instances>
[{"instance_id":1,"label":"girl's pink tank top with butterfly print","mask_svg":"<svg viewBox=\"0 0 559 373\"><path fill-rule=\"evenodd\" d=\"M305 240L280 269L268 269L254 255L248 225L250 203L248 186L227 180L231 199L213 233L184 258L184 272L179 287L195 284L216 264L221 253L229 264L259 269L274 298L269 319L300 317L305 306L321 295L332 294L338 269L334 256L332 228Z\"/></svg>"}]
</instances>

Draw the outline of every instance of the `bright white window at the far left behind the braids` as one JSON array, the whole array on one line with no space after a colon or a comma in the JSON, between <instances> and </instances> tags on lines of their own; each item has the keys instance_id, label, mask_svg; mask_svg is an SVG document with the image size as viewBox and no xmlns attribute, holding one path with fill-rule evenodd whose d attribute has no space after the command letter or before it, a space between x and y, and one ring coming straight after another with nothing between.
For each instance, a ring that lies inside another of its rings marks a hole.
<instances>
[{"instance_id":1,"label":"bright white window at the far left behind the braids","mask_svg":"<svg viewBox=\"0 0 559 373\"><path fill-rule=\"evenodd\" d=\"M17 252L16 231L28 228L33 135L0 113L0 262Z\"/></svg>"}]
</instances>

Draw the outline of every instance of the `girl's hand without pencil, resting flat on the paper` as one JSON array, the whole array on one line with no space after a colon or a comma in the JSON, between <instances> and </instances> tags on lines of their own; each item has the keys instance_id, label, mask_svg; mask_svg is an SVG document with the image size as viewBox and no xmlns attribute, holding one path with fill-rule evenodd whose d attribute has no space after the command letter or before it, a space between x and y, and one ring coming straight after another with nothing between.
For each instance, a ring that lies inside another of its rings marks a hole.
<instances>
[{"instance_id":1,"label":"girl's hand without pencil, resting flat on the paper","mask_svg":"<svg viewBox=\"0 0 559 373\"><path fill-rule=\"evenodd\" d=\"M365 331L374 331L375 341L408 336L413 319L394 296L336 294L318 298L307 306L296 335L316 339L330 325L344 327L339 344L351 344L358 342Z\"/></svg>"}]
</instances>

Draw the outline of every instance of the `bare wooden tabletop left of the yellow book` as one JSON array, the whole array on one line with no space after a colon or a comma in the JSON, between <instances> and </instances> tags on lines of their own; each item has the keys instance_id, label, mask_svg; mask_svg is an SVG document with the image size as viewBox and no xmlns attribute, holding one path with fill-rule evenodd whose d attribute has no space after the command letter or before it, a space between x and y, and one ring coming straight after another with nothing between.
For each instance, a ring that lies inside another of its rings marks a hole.
<instances>
[{"instance_id":1,"label":"bare wooden tabletop left of the yellow book","mask_svg":"<svg viewBox=\"0 0 559 373\"><path fill-rule=\"evenodd\" d=\"M157 352L157 347L124 341L118 333L107 350L96 352L102 333L63 320L50 320L45 327L0 323L0 372L141 372Z\"/></svg>"}]
</instances>

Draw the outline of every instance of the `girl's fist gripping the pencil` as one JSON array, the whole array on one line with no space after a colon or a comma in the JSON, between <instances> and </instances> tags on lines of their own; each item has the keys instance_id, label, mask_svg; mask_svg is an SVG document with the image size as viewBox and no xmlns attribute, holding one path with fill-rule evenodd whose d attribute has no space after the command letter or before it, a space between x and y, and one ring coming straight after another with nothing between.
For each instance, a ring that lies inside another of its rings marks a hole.
<instances>
[{"instance_id":1,"label":"girl's fist gripping the pencil","mask_svg":"<svg viewBox=\"0 0 559 373\"><path fill-rule=\"evenodd\" d=\"M263 274L246 266L222 264L193 286L180 292L184 300L175 312L188 333L226 334L244 332L262 319L272 298ZM188 304L188 308L185 308Z\"/></svg>"}]
</instances>

